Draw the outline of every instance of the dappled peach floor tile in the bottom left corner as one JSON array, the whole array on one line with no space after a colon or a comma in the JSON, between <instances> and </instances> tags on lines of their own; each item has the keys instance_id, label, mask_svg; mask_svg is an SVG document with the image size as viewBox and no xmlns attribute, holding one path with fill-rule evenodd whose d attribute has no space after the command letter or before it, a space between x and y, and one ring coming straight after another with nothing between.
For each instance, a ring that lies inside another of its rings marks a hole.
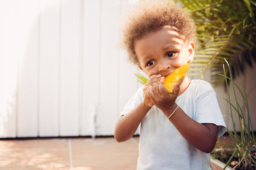
<instances>
[{"instance_id":1,"label":"dappled peach floor tile in the bottom left corner","mask_svg":"<svg viewBox=\"0 0 256 170\"><path fill-rule=\"evenodd\" d=\"M0 170L68 168L67 139L0 141Z\"/></svg>"}]
</instances>

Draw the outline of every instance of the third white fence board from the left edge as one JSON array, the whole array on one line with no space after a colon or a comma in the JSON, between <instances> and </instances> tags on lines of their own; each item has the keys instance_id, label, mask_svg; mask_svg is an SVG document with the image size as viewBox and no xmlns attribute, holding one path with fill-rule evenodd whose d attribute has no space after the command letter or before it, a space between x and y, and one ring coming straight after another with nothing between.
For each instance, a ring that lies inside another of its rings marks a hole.
<instances>
[{"instance_id":1,"label":"third white fence board from the left edge","mask_svg":"<svg viewBox=\"0 0 256 170\"><path fill-rule=\"evenodd\" d=\"M39 26L39 136L58 136L60 0L40 0Z\"/></svg>"}]
</instances>

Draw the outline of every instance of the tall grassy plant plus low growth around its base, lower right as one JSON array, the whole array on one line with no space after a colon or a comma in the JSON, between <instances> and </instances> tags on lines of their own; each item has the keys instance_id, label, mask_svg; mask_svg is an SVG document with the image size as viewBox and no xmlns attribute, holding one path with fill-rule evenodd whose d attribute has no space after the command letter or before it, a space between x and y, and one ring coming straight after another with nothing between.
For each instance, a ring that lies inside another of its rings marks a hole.
<instances>
[{"instance_id":1,"label":"tall grassy plant plus low growth around its base, lower right","mask_svg":"<svg viewBox=\"0 0 256 170\"><path fill-rule=\"evenodd\" d=\"M238 84L236 84L233 80L231 68L229 66L229 63L226 59L224 59L227 63L228 72L230 76L226 75L226 69L223 64L223 72L224 75L221 75L225 78L226 86L227 86L227 93L228 98L224 98L229 103L229 116L232 121L233 125L233 132L228 128L227 131L229 133L229 136L232 140L232 144L223 144L229 147L223 148L222 150L214 151L213 156L217 157L219 159L226 159L227 163L225 167L223 167L223 170L230 165L230 162L233 161L231 166L237 170L255 170L256 169L256 141L255 136L252 129L252 122L250 119L249 114L249 106L248 106L248 99L247 99L247 93L244 88L244 85L240 81L240 85L242 89L239 87ZM228 83L228 80L230 81L230 85ZM229 92L229 86L231 86L231 89L233 91L233 97L235 99L235 102L231 101L231 95ZM238 94L236 93L235 89L238 89L239 95L243 98L244 105L246 107L246 112L242 110L241 103L238 102ZM234 115L238 115L238 122L235 122ZM247 121L246 121L247 119ZM236 123L239 123L239 135L237 133L236 129ZM224 154L224 157L223 157ZM227 157L229 156L229 159ZM235 160L235 161L234 161Z\"/></svg>"}]
</instances>

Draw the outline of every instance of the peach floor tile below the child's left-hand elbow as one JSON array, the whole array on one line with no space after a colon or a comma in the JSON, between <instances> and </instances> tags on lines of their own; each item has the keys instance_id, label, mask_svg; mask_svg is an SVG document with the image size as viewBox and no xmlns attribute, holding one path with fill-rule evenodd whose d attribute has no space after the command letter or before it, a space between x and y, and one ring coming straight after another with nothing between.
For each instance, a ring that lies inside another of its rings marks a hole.
<instances>
[{"instance_id":1,"label":"peach floor tile below the child's left-hand elbow","mask_svg":"<svg viewBox=\"0 0 256 170\"><path fill-rule=\"evenodd\" d=\"M135 170L138 143L130 139L118 143L113 137L72 140L73 167L89 170Z\"/></svg>"}]
</instances>

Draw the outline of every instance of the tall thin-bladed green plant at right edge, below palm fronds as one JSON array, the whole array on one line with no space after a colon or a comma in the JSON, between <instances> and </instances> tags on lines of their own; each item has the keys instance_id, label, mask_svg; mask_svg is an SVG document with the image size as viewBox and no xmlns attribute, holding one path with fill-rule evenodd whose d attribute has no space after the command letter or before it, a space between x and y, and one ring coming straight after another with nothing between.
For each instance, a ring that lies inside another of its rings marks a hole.
<instances>
[{"instance_id":1,"label":"tall thin-bladed green plant at right edge, below palm fronds","mask_svg":"<svg viewBox=\"0 0 256 170\"><path fill-rule=\"evenodd\" d=\"M242 86L242 89L234 82L232 77L231 68L229 66L229 62L224 58L225 62L227 63L229 73L230 75L226 75L225 65L223 64L223 71L224 75L219 74L225 78L226 86L227 86L227 93L228 93L228 99L224 98L229 103L229 116L232 120L232 125L234 131L231 132L230 129L227 129L229 136L231 137L234 147L236 148L232 156L230 157L229 161L226 164L226 167L229 165L230 161L233 159L235 155L238 156L238 165L243 164L244 168L256 168L256 160L255 160L255 154L251 152L251 145L254 145L256 147L255 137L252 129L252 122L250 119L249 114L249 106L248 106L248 99L247 99L247 93L244 88L243 83L240 81L240 84ZM235 102L233 103L231 101L231 96L229 92L229 84L228 80L231 82L231 87L233 91L233 97L235 99ZM244 112L241 108L241 103L238 103L238 94L236 94L236 90L238 89L240 95L243 98L243 102L246 107L246 112ZM233 110L235 113L233 113ZM239 130L240 130L240 137L238 136L237 129L236 129L236 122L234 121L234 115L238 115L238 123L239 123ZM247 119L247 122L245 121ZM225 167L225 168L226 168ZM225 170L225 168L223 170Z\"/></svg>"}]
</instances>

